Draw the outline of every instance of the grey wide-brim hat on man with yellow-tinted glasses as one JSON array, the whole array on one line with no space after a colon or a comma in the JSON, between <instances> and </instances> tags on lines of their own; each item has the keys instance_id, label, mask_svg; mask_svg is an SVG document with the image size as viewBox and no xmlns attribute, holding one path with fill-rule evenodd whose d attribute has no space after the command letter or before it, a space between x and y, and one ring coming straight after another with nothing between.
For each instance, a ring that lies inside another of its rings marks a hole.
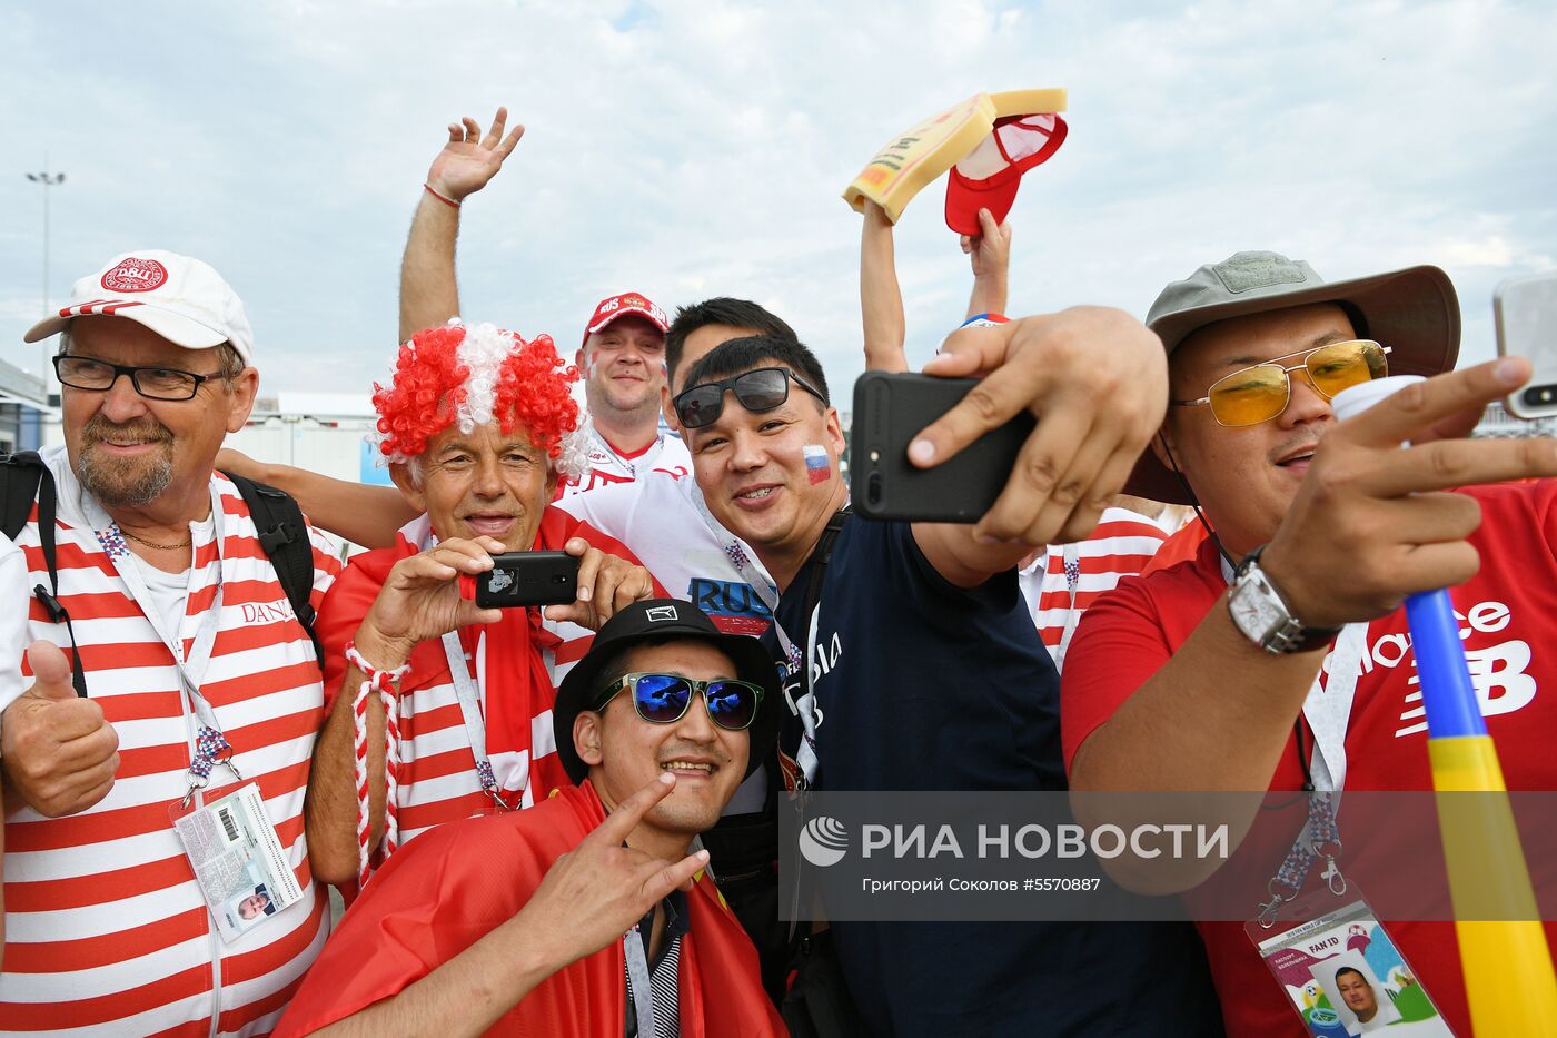
<instances>
[{"instance_id":1,"label":"grey wide-brim hat on man with yellow-tinted glasses","mask_svg":"<svg viewBox=\"0 0 1557 1038\"><path fill-rule=\"evenodd\" d=\"M1341 304L1358 335L1389 346L1390 374L1431 377L1451 371L1459 357L1459 296L1437 267L1327 282L1303 260L1278 252L1235 252L1163 288L1146 315L1146 327L1172 357L1185 338L1207 324L1311 302ZM1151 449L1135 463L1124 493L1191 503L1183 482Z\"/></svg>"}]
</instances>

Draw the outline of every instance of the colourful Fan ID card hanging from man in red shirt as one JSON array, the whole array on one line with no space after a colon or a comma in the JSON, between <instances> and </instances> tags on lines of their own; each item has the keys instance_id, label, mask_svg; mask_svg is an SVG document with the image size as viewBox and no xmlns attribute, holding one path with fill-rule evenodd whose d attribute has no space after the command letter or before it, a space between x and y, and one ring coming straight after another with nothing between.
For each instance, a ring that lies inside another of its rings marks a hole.
<instances>
[{"instance_id":1,"label":"colourful Fan ID card hanging from man in red shirt","mask_svg":"<svg viewBox=\"0 0 1557 1038\"><path fill-rule=\"evenodd\" d=\"M1342 907L1319 916L1305 912L1336 904ZM1289 912L1271 929L1246 929L1309 1035L1454 1036L1356 887L1342 898L1300 898Z\"/></svg>"}]
</instances>

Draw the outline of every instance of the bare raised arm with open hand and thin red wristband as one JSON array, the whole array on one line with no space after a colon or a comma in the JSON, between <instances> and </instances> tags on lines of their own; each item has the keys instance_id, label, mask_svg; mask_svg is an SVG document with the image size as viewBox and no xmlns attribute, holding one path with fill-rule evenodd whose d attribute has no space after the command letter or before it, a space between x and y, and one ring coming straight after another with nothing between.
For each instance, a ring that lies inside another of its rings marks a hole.
<instances>
[{"instance_id":1,"label":"bare raised arm with open hand and thin red wristband","mask_svg":"<svg viewBox=\"0 0 1557 1038\"><path fill-rule=\"evenodd\" d=\"M459 204L486 187L503 161L525 136L523 126L503 136L508 109L497 109L492 129L469 115L448 125L448 143L427 171L422 198L411 220L411 234L400 260L400 341L424 327L442 324L459 313L455 281L455 240L459 237Z\"/></svg>"}]
</instances>

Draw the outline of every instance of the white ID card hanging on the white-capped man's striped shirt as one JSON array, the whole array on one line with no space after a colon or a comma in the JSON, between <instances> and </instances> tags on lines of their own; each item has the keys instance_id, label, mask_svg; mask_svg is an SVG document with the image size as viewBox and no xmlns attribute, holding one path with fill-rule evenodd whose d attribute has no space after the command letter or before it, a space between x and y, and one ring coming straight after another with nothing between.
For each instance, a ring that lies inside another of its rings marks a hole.
<instances>
[{"instance_id":1,"label":"white ID card hanging on the white-capped man's striped shirt","mask_svg":"<svg viewBox=\"0 0 1557 1038\"><path fill-rule=\"evenodd\" d=\"M224 941L302 901L302 887L254 782L190 812L174 804L173 826Z\"/></svg>"}]
</instances>

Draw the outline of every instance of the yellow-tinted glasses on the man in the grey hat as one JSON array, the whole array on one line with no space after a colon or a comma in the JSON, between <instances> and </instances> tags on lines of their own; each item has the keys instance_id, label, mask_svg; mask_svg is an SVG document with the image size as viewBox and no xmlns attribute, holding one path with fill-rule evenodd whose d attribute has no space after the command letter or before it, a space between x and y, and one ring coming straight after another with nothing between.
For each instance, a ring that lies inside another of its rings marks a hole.
<instances>
[{"instance_id":1,"label":"yellow-tinted glasses on the man in the grey hat","mask_svg":"<svg viewBox=\"0 0 1557 1038\"><path fill-rule=\"evenodd\" d=\"M1239 368L1211 383L1199 401L1172 401L1174 407L1211 405L1211 418L1218 425L1239 429L1271 421L1286 410L1292 397L1292 372L1305 371L1308 383L1327 401L1341 390L1389 374L1384 354L1389 346L1365 338L1345 343L1330 343L1317 349L1277 357L1263 365ZM1295 365L1283 360L1300 358Z\"/></svg>"}]
</instances>

